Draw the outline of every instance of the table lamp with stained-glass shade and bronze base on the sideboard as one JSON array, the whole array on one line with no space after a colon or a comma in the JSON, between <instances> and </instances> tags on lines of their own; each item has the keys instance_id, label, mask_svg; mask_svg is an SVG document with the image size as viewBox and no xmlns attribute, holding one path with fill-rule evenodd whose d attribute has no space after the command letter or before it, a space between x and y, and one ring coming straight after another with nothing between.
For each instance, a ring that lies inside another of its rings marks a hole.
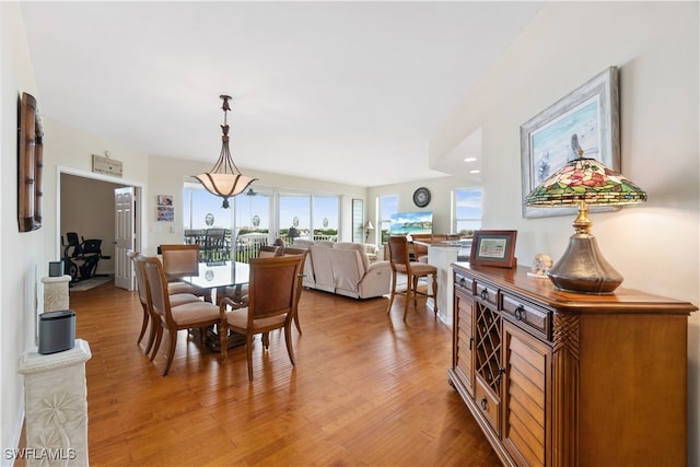
<instances>
[{"instance_id":1,"label":"table lamp with stained-glass shade and bronze base on the sideboard","mask_svg":"<svg viewBox=\"0 0 700 467\"><path fill-rule=\"evenodd\" d=\"M580 152L583 155L583 151ZM610 293L622 276L610 266L591 234L588 206L621 206L646 201L646 194L621 174L595 159L581 156L535 188L525 202L535 207L579 207L575 233L562 257L549 270L558 289L584 293Z\"/></svg>"}]
</instances>

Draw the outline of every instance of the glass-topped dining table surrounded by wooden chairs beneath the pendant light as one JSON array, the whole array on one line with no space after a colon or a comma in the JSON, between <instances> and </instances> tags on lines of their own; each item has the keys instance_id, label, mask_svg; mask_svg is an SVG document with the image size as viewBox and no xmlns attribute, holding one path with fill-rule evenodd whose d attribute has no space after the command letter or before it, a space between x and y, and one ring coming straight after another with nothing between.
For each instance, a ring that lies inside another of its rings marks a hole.
<instances>
[{"instance_id":1,"label":"glass-topped dining table surrounded by wooden chairs beneath the pendant light","mask_svg":"<svg viewBox=\"0 0 700 467\"><path fill-rule=\"evenodd\" d=\"M208 291L208 300L219 304L223 296L241 299L242 289L250 278L250 266L240 261L199 262L197 273L168 275L168 277ZM199 330L190 331L197 334ZM219 326L212 326L207 329L203 339L205 345L214 352L221 351L219 331ZM226 348L232 349L242 345L245 345L245 336L230 330Z\"/></svg>"}]
</instances>

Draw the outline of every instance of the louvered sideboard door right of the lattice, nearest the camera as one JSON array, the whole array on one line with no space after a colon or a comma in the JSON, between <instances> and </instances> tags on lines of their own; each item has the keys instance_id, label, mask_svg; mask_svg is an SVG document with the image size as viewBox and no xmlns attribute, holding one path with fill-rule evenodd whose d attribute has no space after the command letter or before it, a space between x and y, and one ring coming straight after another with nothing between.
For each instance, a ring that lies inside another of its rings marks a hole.
<instances>
[{"instance_id":1,"label":"louvered sideboard door right of the lattice, nearest the camera","mask_svg":"<svg viewBox=\"0 0 700 467\"><path fill-rule=\"evenodd\" d=\"M503 444L518 465L551 465L551 348L503 320Z\"/></svg>"}]
</instances>

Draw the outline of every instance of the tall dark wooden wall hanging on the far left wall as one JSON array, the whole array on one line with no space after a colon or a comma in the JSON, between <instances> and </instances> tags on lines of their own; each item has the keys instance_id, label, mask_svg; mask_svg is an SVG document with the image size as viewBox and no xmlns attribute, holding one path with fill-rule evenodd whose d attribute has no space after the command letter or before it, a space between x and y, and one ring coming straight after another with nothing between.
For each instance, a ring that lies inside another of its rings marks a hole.
<instances>
[{"instance_id":1,"label":"tall dark wooden wall hanging on the far left wall","mask_svg":"<svg viewBox=\"0 0 700 467\"><path fill-rule=\"evenodd\" d=\"M22 93L18 105L18 224L31 232L42 227L44 130L34 96Z\"/></svg>"}]
</instances>

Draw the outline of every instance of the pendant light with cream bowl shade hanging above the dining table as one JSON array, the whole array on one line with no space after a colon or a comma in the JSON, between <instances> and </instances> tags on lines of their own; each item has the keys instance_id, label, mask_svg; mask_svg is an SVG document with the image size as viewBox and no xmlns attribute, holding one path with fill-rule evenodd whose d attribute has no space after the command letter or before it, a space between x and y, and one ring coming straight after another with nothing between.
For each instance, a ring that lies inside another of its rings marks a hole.
<instances>
[{"instance_id":1,"label":"pendant light with cream bowl shade hanging above the dining table","mask_svg":"<svg viewBox=\"0 0 700 467\"><path fill-rule=\"evenodd\" d=\"M203 185L207 191L223 198L221 207L228 209L229 198L245 191L248 185L257 180L257 178L244 176L233 162L231 151L229 150L229 124L226 121L228 112L231 110L231 107L229 106L229 100L231 100L231 96L221 95L219 97L223 101L223 105L221 107L223 109L221 153L219 154L219 160L209 172L196 175L195 178Z\"/></svg>"}]
</instances>

